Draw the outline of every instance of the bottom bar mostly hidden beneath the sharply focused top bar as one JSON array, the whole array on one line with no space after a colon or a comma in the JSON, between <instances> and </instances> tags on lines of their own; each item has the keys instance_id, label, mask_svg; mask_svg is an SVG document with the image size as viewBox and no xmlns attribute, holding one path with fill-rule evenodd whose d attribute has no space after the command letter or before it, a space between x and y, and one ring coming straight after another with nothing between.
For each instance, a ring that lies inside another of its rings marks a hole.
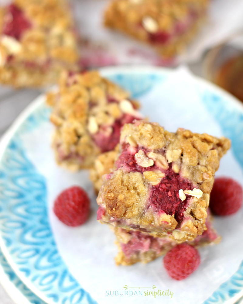
<instances>
[{"instance_id":1,"label":"bottom bar mostly hidden beneath the sharply focused top bar","mask_svg":"<svg viewBox=\"0 0 243 304\"><path fill-rule=\"evenodd\" d=\"M204 230L195 240L188 241L187 243L195 247L219 243L221 237L214 230L211 220L211 215L208 214L205 222L207 230ZM178 244L169 234L164 237L156 237L151 235L151 233L133 229L128 230L116 227L114 230L117 238L116 244L119 249L115 257L117 265L132 265L137 262L148 263L166 254L166 252Z\"/></svg>"}]
</instances>

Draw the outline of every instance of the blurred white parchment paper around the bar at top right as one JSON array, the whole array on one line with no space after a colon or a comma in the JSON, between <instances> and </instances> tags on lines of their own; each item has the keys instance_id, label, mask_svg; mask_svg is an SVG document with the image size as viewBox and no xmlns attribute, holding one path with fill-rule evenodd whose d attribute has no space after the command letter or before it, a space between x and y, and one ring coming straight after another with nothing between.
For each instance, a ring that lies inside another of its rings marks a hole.
<instances>
[{"instance_id":1,"label":"blurred white parchment paper around the bar at top right","mask_svg":"<svg viewBox=\"0 0 243 304\"><path fill-rule=\"evenodd\" d=\"M242 0L211 0L208 21L190 43L186 53L173 62L161 60L152 48L103 26L103 13L109 0L74 0L77 27L89 41L82 47L83 62L87 66L111 64L176 64L200 60L204 51L243 29Z\"/></svg>"}]
</instances>

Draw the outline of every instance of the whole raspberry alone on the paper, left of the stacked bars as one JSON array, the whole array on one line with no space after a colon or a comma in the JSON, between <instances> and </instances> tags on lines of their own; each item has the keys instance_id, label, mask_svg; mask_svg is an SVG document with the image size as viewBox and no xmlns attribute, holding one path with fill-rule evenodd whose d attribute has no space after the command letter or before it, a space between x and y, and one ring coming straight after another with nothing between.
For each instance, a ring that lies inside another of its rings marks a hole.
<instances>
[{"instance_id":1,"label":"whole raspberry alone on the paper, left of the stacked bars","mask_svg":"<svg viewBox=\"0 0 243 304\"><path fill-rule=\"evenodd\" d=\"M68 226L84 224L90 211L90 200L84 189L74 186L61 192L54 202L54 213Z\"/></svg>"}]
</instances>

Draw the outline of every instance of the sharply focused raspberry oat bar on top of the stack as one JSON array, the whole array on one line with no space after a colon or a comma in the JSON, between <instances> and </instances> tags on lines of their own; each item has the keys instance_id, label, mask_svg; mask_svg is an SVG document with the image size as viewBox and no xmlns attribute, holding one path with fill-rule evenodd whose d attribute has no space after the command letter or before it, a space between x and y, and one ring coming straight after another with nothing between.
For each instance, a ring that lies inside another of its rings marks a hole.
<instances>
[{"instance_id":1,"label":"sharply focused raspberry oat bar on top of the stack","mask_svg":"<svg viewBox=\"0 0 243 304\"><path fill-rule=\"evenodd\" d=\"M214 173L230 140L164 130L157 123L125 124L115 170L103 176L101 223L193 240L206 228Z\"/></svg>"}]
</instances>

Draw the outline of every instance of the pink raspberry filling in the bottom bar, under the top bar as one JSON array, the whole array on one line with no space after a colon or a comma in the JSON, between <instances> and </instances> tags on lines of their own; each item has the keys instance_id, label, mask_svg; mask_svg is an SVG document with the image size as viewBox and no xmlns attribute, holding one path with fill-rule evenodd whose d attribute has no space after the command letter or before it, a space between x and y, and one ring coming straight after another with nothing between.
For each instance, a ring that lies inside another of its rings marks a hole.
<instances>
[{"instance_id":1,"label":"pink raspberry filling in the bottom bar, under the top bar","mask_svg":"<svg viewBox=\"0 0 243 304\"><path fill-rule=\"evenodd\" d=\"M123 230L123 229L121 229ZM126 230L124 230L126 232ZM139 231L129 231L129 233L132 238L128 241L128 243L120 243L121 250L124 252L124 254L127 257L132 256L133 254L139 253L139 252L147 252L149 250L156 251L157 254L162 249L162 246L165 243L168 243L168 240L163 240L161 238L152 237L146 234L142 234Z\"/></svg>"}]
</instances>

